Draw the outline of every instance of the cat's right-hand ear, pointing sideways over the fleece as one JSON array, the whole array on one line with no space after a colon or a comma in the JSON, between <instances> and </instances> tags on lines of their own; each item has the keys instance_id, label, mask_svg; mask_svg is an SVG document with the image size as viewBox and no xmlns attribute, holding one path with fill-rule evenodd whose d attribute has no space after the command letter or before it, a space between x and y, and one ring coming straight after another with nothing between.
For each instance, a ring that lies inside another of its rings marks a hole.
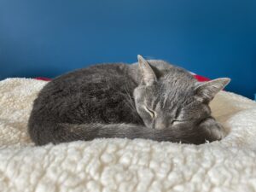
<instances>
[{"instance_id":1,"label":"cat's right-hand ear, pointing sideways over the fleece","mask_svg":"<svg viewBox=\"0 0 256 192\"><path fill-rule=\"evenodd\" d=\"M229 78L219 78L199 84L195 87L195 96L201 102L210 102L229 83Z\"/></svg>"}]
</instances>

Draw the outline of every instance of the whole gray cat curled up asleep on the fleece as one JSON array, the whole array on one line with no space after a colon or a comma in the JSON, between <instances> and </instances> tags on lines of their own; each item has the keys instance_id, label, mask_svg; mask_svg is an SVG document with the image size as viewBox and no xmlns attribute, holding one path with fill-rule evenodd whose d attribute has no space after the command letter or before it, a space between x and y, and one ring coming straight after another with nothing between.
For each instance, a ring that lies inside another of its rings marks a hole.
<instances>
[{"instance_id":1,"label":"whole gray cat curled up asleep on the fleece","mask_svg":"<svg viewBox=\"0 0 256 192\"><path fill-rule=\"evenodd\" d=\"M37 145L104 138L205 143L224 137L208 106L230 79L198 83L166 61L95 65L46 84L28 123Z\"/></svg>"}]
</instances>

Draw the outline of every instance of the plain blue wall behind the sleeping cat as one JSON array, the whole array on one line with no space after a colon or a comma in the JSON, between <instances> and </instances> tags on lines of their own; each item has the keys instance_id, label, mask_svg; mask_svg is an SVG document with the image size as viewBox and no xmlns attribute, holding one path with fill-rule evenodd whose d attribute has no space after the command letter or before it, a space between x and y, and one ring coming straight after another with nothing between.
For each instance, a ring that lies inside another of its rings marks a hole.
<instances>
[{"instance_id":1,"label":"plain blue wall behind the sleeping cat","mask_svg":"<svg viewBox=\"0 0 256 192\"><path fill-rule=\"evenodd\" d=\"M0 0L0 79L160 58L256 92L255 0Z\"/></svg>"}]
</instances>

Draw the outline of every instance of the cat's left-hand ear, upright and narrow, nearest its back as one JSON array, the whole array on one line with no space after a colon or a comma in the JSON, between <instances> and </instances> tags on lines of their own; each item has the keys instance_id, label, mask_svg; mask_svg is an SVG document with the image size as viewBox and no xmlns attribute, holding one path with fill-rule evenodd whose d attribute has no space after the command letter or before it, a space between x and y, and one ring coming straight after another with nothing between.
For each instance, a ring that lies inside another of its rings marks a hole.
<instances>
[{"instance_id":1,"label":"cat's left-hand ear, upright and narrow, nearest its back","mask_svg":"<svg viewBox=\"0 0 256 192\"><path fill-rule=\"evenodd\" d=\"M147 85L153 84L156 81L156 76L153 69L149 66L148 61L142 55L137 55L137 61L142 73L143 83Z\"/></svg>"}]
</instances>

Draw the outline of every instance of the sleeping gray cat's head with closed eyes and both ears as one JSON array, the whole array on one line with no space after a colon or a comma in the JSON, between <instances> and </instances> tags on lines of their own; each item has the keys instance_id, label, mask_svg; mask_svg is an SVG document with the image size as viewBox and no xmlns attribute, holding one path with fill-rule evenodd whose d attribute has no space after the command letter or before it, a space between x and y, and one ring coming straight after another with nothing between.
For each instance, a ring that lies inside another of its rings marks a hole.
<instances>
[{"instance_id":1,"label":"sleeping gray cat's head with closed eyes and both ears","mask_svg":"<svg viewBox=\"0 0 256 192\"><path fill-rule=\"evenodd\" d=\"M157 77L155 67L138 55L141 83L134 90L137 113L148 128L156 130L195 127L211 117L209 102L230 79L199 83L179 67Z\"/></svg>"}]
</instances>

